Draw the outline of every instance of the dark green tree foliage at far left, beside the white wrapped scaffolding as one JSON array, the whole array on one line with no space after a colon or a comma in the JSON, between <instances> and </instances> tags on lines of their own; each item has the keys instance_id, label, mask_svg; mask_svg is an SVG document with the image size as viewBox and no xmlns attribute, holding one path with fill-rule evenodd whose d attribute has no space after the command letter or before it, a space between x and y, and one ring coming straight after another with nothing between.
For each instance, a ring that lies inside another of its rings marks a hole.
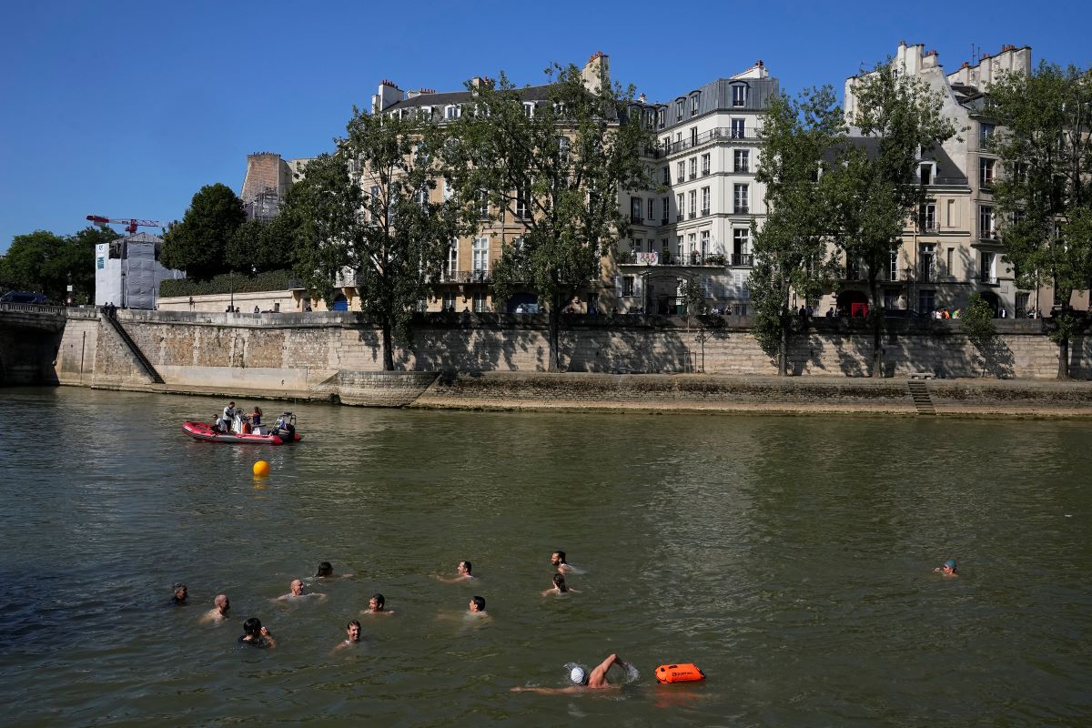
<instances>
[{"instance_id":1,"label":"dark green tree foliage at far left, beside the white wrapped scaffolding","mask_svg":"<svg viewBox=\"0 0 1092 728\"><path fill-rule=\"evenodd\" d=\"M120 236L109 228L87 227L75 235L47 230L17 235L0 256L0 288L44 293L56 303L90 303L95 297L95 246Z\"/></svg>"}]
</instances>

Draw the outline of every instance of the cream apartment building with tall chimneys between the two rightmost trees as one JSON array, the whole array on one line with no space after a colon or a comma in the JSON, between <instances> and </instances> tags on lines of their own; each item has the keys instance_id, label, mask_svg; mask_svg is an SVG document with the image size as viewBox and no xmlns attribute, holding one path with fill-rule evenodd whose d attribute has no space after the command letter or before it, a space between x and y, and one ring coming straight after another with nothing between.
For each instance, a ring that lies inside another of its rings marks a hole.
<instances>
[{"instance_id":1,"label":"cream apartment building with tall chimneys between the two rightmost trees","mask_svg":"<svg viewBox=\"0 0 1092 728\"><path fill-rule=\"evenodd\" d=\"M975 64L964 62L954 73L946 73L937 51L926 51L922 44L901 43L893 60L897 72L921 79L940 94L941 112L958 132L939 148L922 151L917 174L928 201L907 219L889 266L880 272L883 307L929 313L940 307L963 308L971 294L978 293L999 314L1028 315L1043 305L1036 298L1046 296L1019 289L1011 266L1002 260L992 195L1002 170L993 146L997 127L988 116L986 91L1002 72L1030 73L1031 48L1002 46L997 55L983 56ZM857 77L845 82L851 124ZM867 301L867 271L857 261L844 263L840 293L823 297L816 303L819 310L834 306L848 311Z\"/></svg>"}]
</instances>

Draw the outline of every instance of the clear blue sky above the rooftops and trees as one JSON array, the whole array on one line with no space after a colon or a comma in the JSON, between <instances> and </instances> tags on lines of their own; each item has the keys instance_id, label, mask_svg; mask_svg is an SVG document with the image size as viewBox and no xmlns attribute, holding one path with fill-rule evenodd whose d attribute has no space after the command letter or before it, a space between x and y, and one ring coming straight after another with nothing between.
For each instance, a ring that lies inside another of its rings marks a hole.
<instances>
[{"instance_id":1,"label":"clear blue sky above the rooftops and trees","mask_svg":"<svg viewBox=\"0 0 1092 728\"><path fill-rule=\"evenodd\" d=\"M411 10L412 9L412 10ZM972 45L1092 64L1092 3L38 2L0 24L0 251L88 214L164 223L203 184L242 186L246 155L327 151L382 79L450 91L505 70L541 83L596 50L667 100L762 59L795 93L893 53L948 70ZM154 230L153 230L154 231Z\"/></svg>"}]
</instances>

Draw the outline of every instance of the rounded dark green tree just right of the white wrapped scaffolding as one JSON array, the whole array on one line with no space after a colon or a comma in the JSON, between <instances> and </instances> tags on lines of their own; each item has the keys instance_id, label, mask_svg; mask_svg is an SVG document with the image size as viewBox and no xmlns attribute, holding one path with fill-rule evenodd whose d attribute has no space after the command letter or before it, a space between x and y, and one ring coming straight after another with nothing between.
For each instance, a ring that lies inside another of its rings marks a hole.
<instances>
[{"instance_id":1,"label":"rounded dark green tree just right of the white wrapped scaffolding","mask_svg":"<svg viewBox=\"0 0 1092 728\"><path fill-rule=\"evenodd\" d=\"M246 219L242 200L229 187L205 184L193 195L182 220L167 228L159 260L202 281L226 273L228 241Z\"/></svg>"}]
</instances>

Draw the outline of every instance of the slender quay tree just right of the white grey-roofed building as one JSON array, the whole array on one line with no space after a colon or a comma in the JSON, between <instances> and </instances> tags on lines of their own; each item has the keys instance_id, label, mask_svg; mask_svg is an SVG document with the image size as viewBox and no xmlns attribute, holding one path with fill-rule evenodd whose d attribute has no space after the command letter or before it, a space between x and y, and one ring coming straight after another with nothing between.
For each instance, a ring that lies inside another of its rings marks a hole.
<instances>
[{"instance_id":1,"label":"slender quay tree just right of the white grey-roofed building","mask_svg":"<svg viewBox=\"0 0 1092 728\"><path fill-rule=\"evenodd\" d=\"M769 210L753 231L755 265L747 281L755 338L788 373L790 295L810 300L829 286L836 264L829 244L831 175L819 175L823 156L844 136L842 110L830 86L796 100L775 97L762 118L762 163L755 178L765 184Z\"/></svg>"}]
</instances>

